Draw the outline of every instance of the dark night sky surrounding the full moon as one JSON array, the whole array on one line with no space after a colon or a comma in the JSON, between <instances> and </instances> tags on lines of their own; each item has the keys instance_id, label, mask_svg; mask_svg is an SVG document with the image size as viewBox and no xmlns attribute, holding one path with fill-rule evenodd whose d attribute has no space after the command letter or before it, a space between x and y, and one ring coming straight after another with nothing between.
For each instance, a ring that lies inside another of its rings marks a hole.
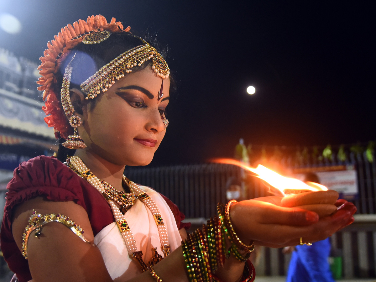
<instances>
[{"instance_id":1,"label":"dark night sky surrounding the full moon","mask_svg":"<svg viewBox=\"0 0 376 282\"><path fill-rule=\"evenodd\" d=\"M232 157L239 138L367 143L376 139L376 2L328 2L2 0L0 13L23 30L0 30L0 47L38 62L61 27L92 14L157 35L178 88L152 165Z\"/></svg>"}]
</instances>

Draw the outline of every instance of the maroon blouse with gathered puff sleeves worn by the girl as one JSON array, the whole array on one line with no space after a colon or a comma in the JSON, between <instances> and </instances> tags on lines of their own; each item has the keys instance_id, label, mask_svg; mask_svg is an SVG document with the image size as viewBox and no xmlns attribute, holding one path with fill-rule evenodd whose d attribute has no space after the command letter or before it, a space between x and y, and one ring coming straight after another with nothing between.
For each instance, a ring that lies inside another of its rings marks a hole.
<instances>
[{"instance_id":1,"label":"maroon blouse with gathered puff sleeves worn by the girl","mask_svg":"<svg viewBox=\"0 0 376 282\"><path fill-rule=\"evenodd\" d=\"M15 205L37 196L56 202L74 201L82 206L89 217L94 236L108 224L114 215L105 198L85 179L53 157L38 156L20 164L8 183L0 247L9 268L20 282L32 279L27 260L22 256L12 235L12 209ZM184 214L167 197L161 195L174 214L179 229L190 227L182 223Z\"/></svg>"}]
</instances>

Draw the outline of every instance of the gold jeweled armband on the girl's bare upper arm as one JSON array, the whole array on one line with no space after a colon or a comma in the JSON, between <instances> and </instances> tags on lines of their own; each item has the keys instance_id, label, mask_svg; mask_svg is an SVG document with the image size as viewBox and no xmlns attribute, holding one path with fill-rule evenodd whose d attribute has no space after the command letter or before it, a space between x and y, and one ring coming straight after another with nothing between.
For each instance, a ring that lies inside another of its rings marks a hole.
<instances>
[{"instance_id":1,"label":"gold jeweled armband on the girl's bare upper arm","mask_svg":"<svg viewBox=\"0 0 376 282\"><path fill-rule=\"evenodd\" d=\"M30 233L35 230L35 237L41 235L42 228L45 224L50 222L59 222L67 226L85 243L90 243L85 237L83 237L84 230L76 224L69 217L62 214L46 214L41 215L33 210L33 213L29 217L29 224L26 226L22 235L22 255L27 259L27 241L29 240Z\"/></svg>"}]
</instances>

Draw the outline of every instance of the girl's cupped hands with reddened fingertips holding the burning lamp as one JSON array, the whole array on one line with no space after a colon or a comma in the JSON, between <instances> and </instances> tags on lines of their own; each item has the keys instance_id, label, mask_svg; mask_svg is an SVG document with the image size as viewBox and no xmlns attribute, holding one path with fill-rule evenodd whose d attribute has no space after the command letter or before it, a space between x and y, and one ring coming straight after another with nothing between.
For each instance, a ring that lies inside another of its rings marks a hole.
<instances>
[{"instance_id":1,"label":"girl's cupped hands with reddened fingertips holding the burning lamp","mask_svg":"<svg viewBox=\"0 0 376 282\"><path fill-rule=\"evenodd\" d=\"M302 208L279 206L276 196L241 201L231 206L230 217L233 227L244 242L268 247L285 247L304 242L315 242L331 236L354 221L356 207L338 200L337 211L320 218L318 214Z\"/></svg>"}]
</instances>

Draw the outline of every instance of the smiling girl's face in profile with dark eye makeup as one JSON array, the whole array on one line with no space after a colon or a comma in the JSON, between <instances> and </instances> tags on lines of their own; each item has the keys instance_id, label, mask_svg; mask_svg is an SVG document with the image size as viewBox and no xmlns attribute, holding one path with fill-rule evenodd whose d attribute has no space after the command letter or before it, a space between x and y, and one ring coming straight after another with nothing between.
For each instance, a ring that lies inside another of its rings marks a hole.
<instances>
[{"instance_id":1,"label":"smiling girl's face in profile with dark eye makeup","mask_svg":"<svg viewBox=\"0 0 376 282\"><path fill-rule=\"evenodd\" d=\"M78 128L86 150L117 165L147 165L164 135L165 109L170 99L170 80L149 68L127 74L115 82L96 103L88 103Z\"/></svg>"}]
</instances>

